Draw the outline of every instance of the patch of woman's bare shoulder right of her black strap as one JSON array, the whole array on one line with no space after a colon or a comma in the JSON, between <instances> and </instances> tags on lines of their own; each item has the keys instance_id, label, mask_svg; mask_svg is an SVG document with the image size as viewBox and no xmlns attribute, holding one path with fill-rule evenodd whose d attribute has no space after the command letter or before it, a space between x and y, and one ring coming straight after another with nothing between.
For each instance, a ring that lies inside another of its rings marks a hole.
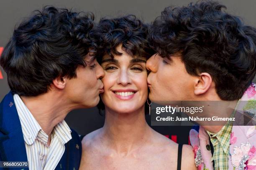
<instances>
[{"instance_id":1,"label":"patch of woman's bare shoulder right of her black strap","mask_svg":"<svg viewBox=\"0 0 256 170\"><path fill-rule=\"evenodd\" d=\"M182 146L182 170L197 170L195 166L194 152L191 145Z\"/></svg>"}]
</instances>

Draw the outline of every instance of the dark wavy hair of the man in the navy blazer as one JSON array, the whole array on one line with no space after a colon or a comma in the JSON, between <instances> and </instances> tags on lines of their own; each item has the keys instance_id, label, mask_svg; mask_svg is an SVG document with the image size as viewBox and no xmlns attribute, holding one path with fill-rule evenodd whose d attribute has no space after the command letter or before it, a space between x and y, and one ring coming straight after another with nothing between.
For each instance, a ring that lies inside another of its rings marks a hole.
<instances>
[{"instance_id":1,"label":"dark wavy hair of the man in the navy blazer","mask_svg":"<svg viewBox=\"0 0 256 170\"><path fill-rule=\"evenodd\" d=\"M11 91L37 96L58 76L76 77L77 66L86 66L84 57L92 46L93 20L92 13L46 6L23 21L0 58Z\"/></svg>"}]
</instances>

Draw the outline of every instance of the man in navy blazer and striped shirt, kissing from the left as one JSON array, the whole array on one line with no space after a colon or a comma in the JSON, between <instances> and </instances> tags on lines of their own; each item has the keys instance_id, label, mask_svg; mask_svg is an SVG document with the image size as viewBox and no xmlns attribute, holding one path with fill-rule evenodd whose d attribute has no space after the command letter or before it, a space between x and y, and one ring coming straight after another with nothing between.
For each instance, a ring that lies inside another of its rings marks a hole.
<instances>
[{"instance_id":1,"label":"man in navy blazer and striped shirt, kissing from the left","mask_svg":"<svg viewBox=\"0 0 256 170\"><path fill-rule=\"evenodd\" d=\"M0 59L11 90L0 104L0 161L78 170L80 138L64 118L96 106L103 92L104 71L90 51L93 19L48 6L14 30Z\"/></svg>"}]
</instances>

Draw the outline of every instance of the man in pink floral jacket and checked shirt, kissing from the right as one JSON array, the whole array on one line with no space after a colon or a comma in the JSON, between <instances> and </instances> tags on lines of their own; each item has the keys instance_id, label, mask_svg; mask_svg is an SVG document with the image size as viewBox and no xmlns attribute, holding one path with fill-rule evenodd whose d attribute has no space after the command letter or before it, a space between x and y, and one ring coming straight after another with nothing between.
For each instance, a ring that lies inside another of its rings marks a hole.
<instances>
[{"instance_id":1,"label":"man in pink floral jacket and checked shirt, kissing from the right","mask_svg":"<svg viewBox=\"0 0 256 170\"><path fill-rule=\"evenodd\" d=\"M149 33L156 54L146 63L151 71L149 98L152 101L229 101L233 108L239 107L239 99L250 100L251 107L247 107L251 112L243 116L255 123L256 85L252 81L256 74L256 29L243 24L240 18L226 13L223 8L224 5L214 1L199 1L165 8L156 18ZM234 116L227 108L222 113ZM220 114L218 109L211 111L212 115ZM255 126L239 123L202 124L201 152L198 146L194 147L199 169L204 168L202 162L206 168L213 169L211 161L216 170L256 167L255 150L250 150L256 145ZM197 137L195 131L191 134ZM212 156L210 141L214 150ZM199 141L192 143L199 144ZM242 156L234 151L241 147L248 149Z\"/></svg>"}]
</instances>

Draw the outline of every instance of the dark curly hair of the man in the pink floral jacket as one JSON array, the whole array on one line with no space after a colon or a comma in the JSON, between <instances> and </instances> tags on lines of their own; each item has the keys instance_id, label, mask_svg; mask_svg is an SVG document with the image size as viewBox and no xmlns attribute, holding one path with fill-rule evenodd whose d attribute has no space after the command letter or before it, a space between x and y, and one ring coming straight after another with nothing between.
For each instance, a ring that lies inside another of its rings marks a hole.
<instances>
[{"instance_id":1,"label":"dark curly hair of the man in the pink floral jacket","mask_svg":"<svg viewBox=\"0 0 256 170\"><path fill-rule=\"evenodd\" d=\"M181 54L189 74L209 73L220 99L236 100L256 74L256 29L223 9L214 1L165 8L148 41L162 57Z\"/></svg>"}]
</instances>

